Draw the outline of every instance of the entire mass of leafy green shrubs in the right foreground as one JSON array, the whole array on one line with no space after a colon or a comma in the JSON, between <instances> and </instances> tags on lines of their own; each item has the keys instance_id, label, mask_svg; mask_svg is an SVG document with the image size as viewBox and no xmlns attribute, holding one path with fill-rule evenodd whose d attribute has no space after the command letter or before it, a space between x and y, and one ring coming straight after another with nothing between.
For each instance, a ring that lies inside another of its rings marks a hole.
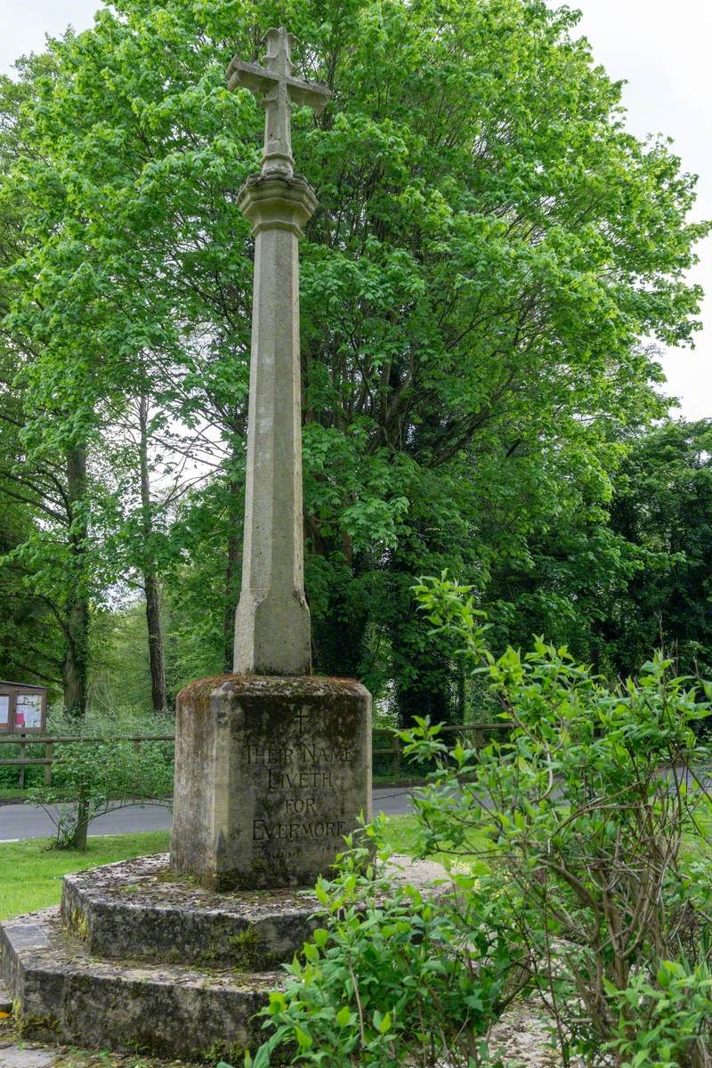
<instances>
[{"instance_id":1,"label":"entire mass of leafy green shrubs in the right foreground","mask_svg":"<svg viewBox=\"0 0 712 1068\"><path fill-rule=\"evenodd\" d=\"M254 1068L473 1068L520 994L543 1003L565 1065L709 1068L712 806L695 729L712 689L661 655L617 687L542 641L495 659L466 588L427 579L417 594L509 728L479 751L426 719L401 734L438 765L414 852L449 858L457 892L425 900L364 846L345 853ZM379 826L366 833L378 845Z\"/></svg>"}]
</instances>

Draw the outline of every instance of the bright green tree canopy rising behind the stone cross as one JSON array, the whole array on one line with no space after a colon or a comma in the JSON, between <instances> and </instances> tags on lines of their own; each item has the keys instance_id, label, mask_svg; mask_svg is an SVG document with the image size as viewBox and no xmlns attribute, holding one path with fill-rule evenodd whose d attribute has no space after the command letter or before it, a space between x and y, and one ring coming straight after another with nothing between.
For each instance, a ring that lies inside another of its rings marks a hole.
<instances>
[{"instance_id":1,"label":"bright green tree canopy rising behind the stone cross","mask_svg":"<svg viewBox=\"0 0 712 1068\"><path fill-rule=\"evenodd\" d=\"M605 531L615 441L662 412L648 341L696 329L694 179L624 131L620 88L565 7L117 0L4 79L0 399L21 389L22 406L0 466L58 477L67 450L89 455L68 527L33 512L17 554L60 615L67 545L91 611L155 565L180 618L174 678L223 665L252 276L236 192L262 137L224 72L281 22L333 90L321 119L295 115L320 204L301 250L317 659L394 679L404 721L428 694L450 714L452 658L428 656L413 576L464 575L503 641L518 612L587 641L601 588L627 577Z\"/></svg>"}]
</instances>

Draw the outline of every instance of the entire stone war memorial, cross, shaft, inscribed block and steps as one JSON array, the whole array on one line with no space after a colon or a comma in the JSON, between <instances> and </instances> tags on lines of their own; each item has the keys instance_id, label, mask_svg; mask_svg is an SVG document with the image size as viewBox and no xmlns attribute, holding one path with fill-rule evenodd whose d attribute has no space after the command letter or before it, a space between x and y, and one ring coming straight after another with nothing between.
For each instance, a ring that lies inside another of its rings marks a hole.
<instances>
[{"instance_id":1,"label":"entire stone war memorial, cross, shaft, inscribed block and steps","mask_svg":"<svg viewBox=\"0 0 712 1068\"><path fill-rule=\"evenodd\" d=\"M295 174L290 114L329 91L233 60L263 103L262 172L240 207L254 236L242 588L234 674L178 696L169 857L64 879L60 909L0 927L0 979L31 1037L186 1058L237 1056L314 922L310 894L370 808L370 696L311 673L303 586L299 253L316 208Z\"/></svg>"}]
</instances>

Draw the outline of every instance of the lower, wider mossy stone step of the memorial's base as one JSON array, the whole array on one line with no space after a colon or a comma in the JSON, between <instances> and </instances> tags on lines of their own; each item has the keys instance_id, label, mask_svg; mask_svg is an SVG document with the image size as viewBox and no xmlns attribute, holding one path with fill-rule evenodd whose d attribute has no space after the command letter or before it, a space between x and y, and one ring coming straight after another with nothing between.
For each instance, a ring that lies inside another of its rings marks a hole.
<instances>
[{"instance_id":1,"label":"lower, wider mossy stone step of the memorial's base","mask_svg":"<svg viewBox=\"0 0 712 1068\"><path fill-rule=\"evenodd\" d=\"M258 1043L254 1014L284 975L99 960L58 909L2 925L0 963L28 1037L212 1062Z\"/></svg>"}]
</instances>

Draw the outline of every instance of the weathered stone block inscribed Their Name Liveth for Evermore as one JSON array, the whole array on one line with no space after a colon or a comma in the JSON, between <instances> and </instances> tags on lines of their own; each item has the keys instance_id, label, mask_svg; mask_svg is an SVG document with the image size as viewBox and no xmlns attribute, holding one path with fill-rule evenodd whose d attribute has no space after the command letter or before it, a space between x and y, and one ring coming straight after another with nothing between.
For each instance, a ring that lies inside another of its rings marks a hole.
<instances>
[{"instance_id":1,"label":"weathered stone block inscribed Their Name Liveth for Evermore","mask_svg":"<svg viewBox=\"0 0 712 1068\"><path fill-rule=\"evenodd\" d=\"M178 695L171 866L216 890L311 886L370 818L370 696L225 675Z\"/></svg>"}]
</instances>

